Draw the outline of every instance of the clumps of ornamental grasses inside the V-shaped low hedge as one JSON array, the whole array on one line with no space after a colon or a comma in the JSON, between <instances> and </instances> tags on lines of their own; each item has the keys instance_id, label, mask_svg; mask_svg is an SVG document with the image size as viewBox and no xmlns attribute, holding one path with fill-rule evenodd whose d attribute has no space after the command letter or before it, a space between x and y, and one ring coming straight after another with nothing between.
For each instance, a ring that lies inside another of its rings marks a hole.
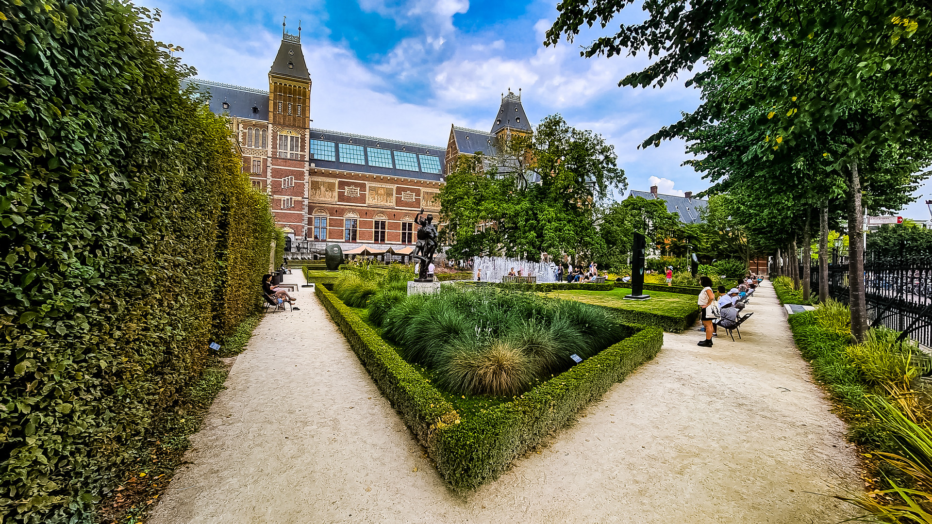
<instances>
[{"instance_id":1,"label":"clumps of ornamental grasses inside the V-shaped low hedge","mask_svg":"<svg viewBox=\"0 0 932 524\"><path fill-rule=\"evenodd\" d=\"M445 289L404 302L377 312L383 335L452 393L523 393L535 379L566 370L570 354L588 358L623 333L608 310L491 287Z\"/></svg>"}]
</instances>

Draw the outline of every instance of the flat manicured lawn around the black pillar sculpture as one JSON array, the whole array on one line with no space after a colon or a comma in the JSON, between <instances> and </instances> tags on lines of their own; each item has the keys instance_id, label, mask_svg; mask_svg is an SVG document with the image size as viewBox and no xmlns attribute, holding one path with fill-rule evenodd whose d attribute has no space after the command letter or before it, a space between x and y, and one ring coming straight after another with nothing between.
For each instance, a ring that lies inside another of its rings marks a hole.
<instances>
[{"instance_id":1,"label":"flat manicured lawn around the black pillar sculpture","mask_svg":"<svg viewBox=\"0 0 932 524\"><path fill-rule=\"evenodd\" d=\"M625 300L630 289L611 291L552 291L541 295L565 300L578 300L587 304L620 310L626 323L662 327L665 331L682 333L695 323L699 316L696 297L661 291L645 291L648 300Z\"/></svg>"}]
</instances>

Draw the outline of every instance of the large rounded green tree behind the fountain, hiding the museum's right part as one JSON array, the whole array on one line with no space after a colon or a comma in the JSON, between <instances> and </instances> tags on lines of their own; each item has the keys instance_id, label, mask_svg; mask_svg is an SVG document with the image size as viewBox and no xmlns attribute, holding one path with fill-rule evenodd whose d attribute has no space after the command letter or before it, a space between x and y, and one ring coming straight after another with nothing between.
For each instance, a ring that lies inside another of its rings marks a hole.
<instances>
[{"instance_id":1,"label":"large rounded green tree behind the fountain, hiding the museum's right part","mask_svg":"<svg viewBox=\"0 0 932 524\"><path fill-rule=\"evenodd\" d=\"M521 258L601 250L597 201L610 186L626 186L613 146L559 115L541 120L533 137L499 146L496 158L460 159L448 173L441 243L457 254ZM530 183L535 178L541 182Z\"/></svg>"}]
</instances>

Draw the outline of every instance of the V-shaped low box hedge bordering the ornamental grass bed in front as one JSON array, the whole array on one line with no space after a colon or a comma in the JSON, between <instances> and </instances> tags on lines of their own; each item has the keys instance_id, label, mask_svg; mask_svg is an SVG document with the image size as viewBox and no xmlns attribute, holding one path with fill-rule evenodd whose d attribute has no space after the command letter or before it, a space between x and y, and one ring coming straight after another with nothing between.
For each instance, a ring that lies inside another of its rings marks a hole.
<instances>
[{"instance_id":1,"label":"V-shaped low box hedge bordering the ornamental grass bed in front","mask_svg":"<svg viewBox=\"0 0 932 524\"><path fill-rule=\"evenodd\" d=\"M654 327L632 325L630 336L524 393L472 418L459 413L376 331L323 286L315 290L353 351L427 447L455 490L473 490L498 478L511 462L572 421L581 407L653 358L664 343Z\"/></svg>"}]
</instances>

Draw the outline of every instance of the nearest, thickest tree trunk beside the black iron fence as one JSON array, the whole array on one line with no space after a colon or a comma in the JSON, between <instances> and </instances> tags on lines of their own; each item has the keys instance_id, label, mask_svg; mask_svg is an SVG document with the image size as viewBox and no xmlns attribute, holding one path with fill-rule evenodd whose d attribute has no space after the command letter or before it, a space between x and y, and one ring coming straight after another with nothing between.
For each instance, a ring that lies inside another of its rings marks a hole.
<instances>
[{"instance_id":1,"label":"nearest, thickest tree trunk beside the black iron fence","mask_svg":"<svg viewBox=\"0 0 932 524\"><path fill-rule=\"evenodd\" d=\"M868 334L868 307L864 296L864 217L861 209L861 177L857 160L851 170L848 195L848 306L851 308L851 334L858 341Z\"/></svg>"}]
</instances>

